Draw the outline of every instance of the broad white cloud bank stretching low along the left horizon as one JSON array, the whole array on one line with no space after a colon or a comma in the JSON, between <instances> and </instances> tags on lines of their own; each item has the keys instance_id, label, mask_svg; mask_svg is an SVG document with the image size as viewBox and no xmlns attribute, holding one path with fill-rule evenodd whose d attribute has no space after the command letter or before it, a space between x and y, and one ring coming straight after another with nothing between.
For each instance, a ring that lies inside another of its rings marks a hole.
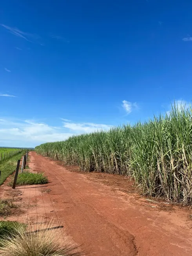
<instances>
[{"instance_id":1,"label":"broad white cloud bank stretching low along the left horizon","mask_svg":"<svg viewBox=\"0 0 192 256\"><path fill-rule=\"evenodd\" d=\"M110 129L110 125L96 123L61 123L53 127L34 120L0 119L0 146L35 147L45 142L61 141L74 134ZM71 124L71 125L70 125Z\"/></svg>"}]
</instances>

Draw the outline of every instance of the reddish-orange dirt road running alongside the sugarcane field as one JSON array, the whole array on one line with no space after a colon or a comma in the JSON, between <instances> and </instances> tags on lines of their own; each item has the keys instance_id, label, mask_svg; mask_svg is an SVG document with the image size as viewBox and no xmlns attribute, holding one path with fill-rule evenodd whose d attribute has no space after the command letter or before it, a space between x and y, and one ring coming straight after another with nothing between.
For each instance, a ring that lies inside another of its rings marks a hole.
<instances>
[{"instance_id":1,"label":"reddish-orange dirt road running alongside the sugarcane field","mask_svg":"<svg viewBox=\"0 0 192 256\"><path fill-rule=\"evenodd\" d=\"M48 217L61 218L68 235L91 256L192 255L192 221L181 218L182 213L148 210L34 152L30 167L45 172L50 181L46 189L51 192L43 200L36 192L36 202L43 203Z\"/></svg>"}]
</instances>

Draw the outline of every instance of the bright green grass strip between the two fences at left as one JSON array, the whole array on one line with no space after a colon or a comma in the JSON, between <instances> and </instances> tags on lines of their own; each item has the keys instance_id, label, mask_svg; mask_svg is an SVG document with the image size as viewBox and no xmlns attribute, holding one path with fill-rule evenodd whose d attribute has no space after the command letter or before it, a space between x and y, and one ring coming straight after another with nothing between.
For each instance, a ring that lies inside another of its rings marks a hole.
<instances>
[{"instance_id":1,"label":"bright green grass strip between the two fences at left","mask_svg":"<svg viewBox=\"0 0 192 256\"><path fill-rule=\"evenodd\" d=\"M5 159L4 161L0 162L0 171L1 171L0 185L4 183L4 181L10 174L13 174L17 166L17 160L21 159L24 153L25 151L22 151L18 154L15 154L11 158Z\"/></svg>"}]
</instances>

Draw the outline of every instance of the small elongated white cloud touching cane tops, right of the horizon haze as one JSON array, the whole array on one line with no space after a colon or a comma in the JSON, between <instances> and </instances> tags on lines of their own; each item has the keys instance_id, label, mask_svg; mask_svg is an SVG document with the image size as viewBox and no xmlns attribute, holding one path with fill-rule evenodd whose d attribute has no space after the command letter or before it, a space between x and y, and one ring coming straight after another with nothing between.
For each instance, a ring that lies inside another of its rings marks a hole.
<instances>
[{"instance_id":1,"label":"small elongated white cloud touching cane tops, right of the horizon haze","mask_svg":"<svg viewBox=\"0 0 192 256\"><path fill-rule=\"evenodd\" d=\"M112 126L97 123L73 123L73 122L63 122L63 127L68 128L72 131L83 132L83 133L93 133L95 131L109 130Z\"/></svg>"}]
</instances>

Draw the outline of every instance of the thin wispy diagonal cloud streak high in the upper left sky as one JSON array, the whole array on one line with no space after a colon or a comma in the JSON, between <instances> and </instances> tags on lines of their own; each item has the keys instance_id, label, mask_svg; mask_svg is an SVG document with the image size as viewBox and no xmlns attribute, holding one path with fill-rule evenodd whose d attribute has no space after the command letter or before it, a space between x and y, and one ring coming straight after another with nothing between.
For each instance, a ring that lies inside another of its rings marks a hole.
<instances>
[{"instance_id":1,"label":"thin wispy diagonal cloud streak high in the upper left sky","mask_svg":"<svg viewBox=\"0 0 192 256\"><path fill-rule=\"evenodd\" d=\"M2 27L4 27L5 29L7 29L7 31L9 31L9 33L14 34L15 36L24 38L28 42L32 42L32 43L36 42L38 44L41 44L39 42L40 36L38 36L37 34L27 33L27 32L21 31L20 29L18 29L16 27L9 27L9 26L4 25L4 24L0 24L0 25ZM16 47L16 49L17 49L17 47Z\"/></svg>"}]
</instances>

